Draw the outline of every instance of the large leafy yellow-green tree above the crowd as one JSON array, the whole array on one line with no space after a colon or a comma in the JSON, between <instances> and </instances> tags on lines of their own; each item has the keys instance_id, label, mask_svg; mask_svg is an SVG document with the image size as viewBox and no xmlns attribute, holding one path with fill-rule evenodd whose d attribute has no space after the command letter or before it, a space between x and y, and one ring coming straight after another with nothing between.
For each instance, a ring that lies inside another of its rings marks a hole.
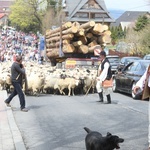
<instances>
[{"instance_id":1,"label":"large leafy yellow-green tree above the crowd","mask_svg":"<svg viewBox=\"0 0 150 150\"><path fill-rule=\"evenodd\" d=\"M11 24L18 29L29 31L42 31L43 10L39 9L42 2L38 0L17 0L11 6L11 14L9 20Z\"/></svg>"}]
</instances>

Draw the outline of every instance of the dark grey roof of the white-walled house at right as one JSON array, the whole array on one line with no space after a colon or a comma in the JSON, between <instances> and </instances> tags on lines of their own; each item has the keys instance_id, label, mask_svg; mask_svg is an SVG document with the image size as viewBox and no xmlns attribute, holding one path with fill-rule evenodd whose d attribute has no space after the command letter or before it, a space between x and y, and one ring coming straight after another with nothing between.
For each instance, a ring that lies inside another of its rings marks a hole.
<instances>
[{"instance_id":1,"label":"dark grey roof of the white-walled house at right","mask_svg":"<svg viewBox=\"0 0 150 150\"><path fill-rule=\"evenodd\" d=\"M147 11L126 11L111 26L119 26L121 22L135 22L140 16L148 14Z\"/></svg>"}]
</instances>

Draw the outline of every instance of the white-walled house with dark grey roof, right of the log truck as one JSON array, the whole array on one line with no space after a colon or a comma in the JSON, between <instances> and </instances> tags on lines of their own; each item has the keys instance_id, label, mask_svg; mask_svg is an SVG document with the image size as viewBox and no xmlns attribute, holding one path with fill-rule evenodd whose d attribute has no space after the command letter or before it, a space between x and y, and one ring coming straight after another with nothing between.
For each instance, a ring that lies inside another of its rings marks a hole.
<instances>
[{"instance_id":1,"label":"white-walled house with dark grey roof, right of the log truck","mask_svg":"<svg viewBox=\"0 0 150 150\"><path fill-rule=\"evenodd\" d=\"M143 15L150 16L150 13L147 11L126 11L114 23L111 23L111 27L121 26L123 30L133 28L137 19Z\"/></svg>"}]
</instances>

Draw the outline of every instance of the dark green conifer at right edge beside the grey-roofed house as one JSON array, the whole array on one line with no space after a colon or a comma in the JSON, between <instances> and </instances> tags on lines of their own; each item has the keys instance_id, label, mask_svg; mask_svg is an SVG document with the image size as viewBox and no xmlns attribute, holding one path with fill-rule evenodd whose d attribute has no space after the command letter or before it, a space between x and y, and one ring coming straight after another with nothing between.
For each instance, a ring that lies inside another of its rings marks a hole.
<instances>
[{"instance_id":1,"label":"dark green conifer at right edge beside the grey-roofed house","mask_svg":"<svg viewBox=\"0 0 150 150\"><path fill-rule=\"evenodd\" d=\"M146 15L144 16L140 16L137 20L137 22L135 23L135 27L134 30L135 31L140 31L142 29L144 29L144 27L149 23L149 19Z\"/></svg>"}]
</instances>

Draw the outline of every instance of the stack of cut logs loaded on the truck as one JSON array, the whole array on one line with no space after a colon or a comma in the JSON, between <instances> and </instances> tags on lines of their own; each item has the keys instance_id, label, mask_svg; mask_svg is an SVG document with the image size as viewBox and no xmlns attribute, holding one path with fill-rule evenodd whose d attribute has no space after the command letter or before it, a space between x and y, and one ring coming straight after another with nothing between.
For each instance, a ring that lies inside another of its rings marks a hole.
<instances>
[{"instance_id":1,"label":"stack of cut logs loaded on the truck","mask_svg":"<svg viewBox=\"0 0 150 150\"><path fill-rule=\"evenodd\" d=\"M94 47L111 42L107 25L89 21L84 24L66 22L61 27L46 32L46 55L59 57L60 43L63 53L93 53Z\"/></svg>"}]
</instances>

